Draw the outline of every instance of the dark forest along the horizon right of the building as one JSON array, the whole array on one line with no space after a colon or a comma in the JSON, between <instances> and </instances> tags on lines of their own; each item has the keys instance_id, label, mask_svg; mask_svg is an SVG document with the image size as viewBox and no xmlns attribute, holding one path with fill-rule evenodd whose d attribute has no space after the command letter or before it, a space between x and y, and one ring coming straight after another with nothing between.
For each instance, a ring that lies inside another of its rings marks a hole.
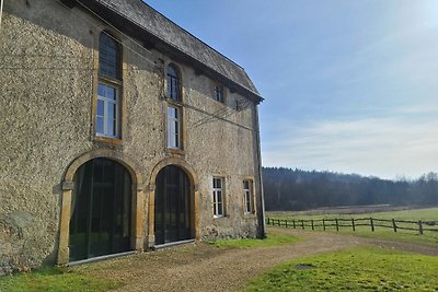
<instances>
[{"instance_id":1,"label":"dark forest along the horizon right of the building","mask_svg":"<svg viewBox=\"0 0 438 292\"><path fill-rule=\"evenodd\" d=\"M397 180L339 174L263 167L267 211L298 211L341 206L437 206L438 173Z\"/></svg>"}]
</instances>

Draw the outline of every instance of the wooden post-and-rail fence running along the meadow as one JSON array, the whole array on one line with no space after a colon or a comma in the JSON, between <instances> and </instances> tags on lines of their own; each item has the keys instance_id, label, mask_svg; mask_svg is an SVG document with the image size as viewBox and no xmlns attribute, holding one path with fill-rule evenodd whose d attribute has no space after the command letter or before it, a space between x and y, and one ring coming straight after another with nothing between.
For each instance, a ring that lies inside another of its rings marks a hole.
<instances>
[{"instance_id":1,"label":"wooden post-and-rail fence running along the meadow","mask_svg":"<svg viewBox=\"0 0 438 292\"><path fill-rule=\"evenodd\" d=\"M266 218L266 224L274 226L293 227L293 229L312 229L322 227L326 230L335 227L350 227L356 231L358 226L369 226L373 232L376 227L392 229L394 232L399 230L417 231L424 234L425 231L438 232L438 221L414 221L414 220L395 220L395 219L377 219L377 218L359 218L359 219L320 219L320 220L298 220L298 219L273 219Z\"/></svg>"}]
</instances>

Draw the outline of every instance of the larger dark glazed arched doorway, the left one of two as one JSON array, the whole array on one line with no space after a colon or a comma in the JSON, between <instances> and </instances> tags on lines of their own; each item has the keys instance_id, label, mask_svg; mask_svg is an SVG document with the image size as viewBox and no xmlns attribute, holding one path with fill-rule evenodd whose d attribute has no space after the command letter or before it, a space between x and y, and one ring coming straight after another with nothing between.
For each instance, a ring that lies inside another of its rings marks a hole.
<instances>
[{"instance_id":1,"label":"larger dark glazed arched doorway, the left one of two","mask_svg":"<svg viewBox=\"0 0 438 292\"><path fill-rule=\"evenodd\" d=\"M69 261L130 250L129 172L108 159L93 159L74 174Z\"/></svg>"}]
</instances>

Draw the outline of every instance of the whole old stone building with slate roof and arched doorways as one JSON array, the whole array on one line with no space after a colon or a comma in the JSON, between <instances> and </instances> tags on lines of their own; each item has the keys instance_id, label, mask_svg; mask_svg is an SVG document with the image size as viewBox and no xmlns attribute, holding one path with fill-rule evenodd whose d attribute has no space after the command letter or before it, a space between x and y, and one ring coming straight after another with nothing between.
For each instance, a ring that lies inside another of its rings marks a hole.
<instances>
[{"instance_id":1,"label":"whole old stone building with slate roof and arched doorways","mask_svg":"<svg viewBox=\"0 0 438 292\"><path fill-rule=\"evenodd\" d=\"M0 275L263 236L243 68L141 0L1 13Z\"/></svg>"}]
</instances>

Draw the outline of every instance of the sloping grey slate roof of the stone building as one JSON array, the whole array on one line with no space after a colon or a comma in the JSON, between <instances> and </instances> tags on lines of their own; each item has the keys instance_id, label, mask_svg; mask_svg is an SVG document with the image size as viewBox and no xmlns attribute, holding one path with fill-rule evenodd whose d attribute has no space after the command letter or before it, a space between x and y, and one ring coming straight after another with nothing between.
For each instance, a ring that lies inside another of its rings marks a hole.
<instances>
[{"instance_id":1,"label":"sloping grey slate roof of the stone building","mask_svg":"<svg viewBox=\"0 0 438 292\"><path fill-rule=\"evenodd\" d=\"M89 0L90 1L90 0ZM158 37L171 47L199 61L228 81L241 86L263 101L257 89L242 67L199 40L181 26L166 19L141 0L92 0L126 20L135 23L149 34ZM87 1L85 1L87 2Z\"/></svg>"}]
</instances>

